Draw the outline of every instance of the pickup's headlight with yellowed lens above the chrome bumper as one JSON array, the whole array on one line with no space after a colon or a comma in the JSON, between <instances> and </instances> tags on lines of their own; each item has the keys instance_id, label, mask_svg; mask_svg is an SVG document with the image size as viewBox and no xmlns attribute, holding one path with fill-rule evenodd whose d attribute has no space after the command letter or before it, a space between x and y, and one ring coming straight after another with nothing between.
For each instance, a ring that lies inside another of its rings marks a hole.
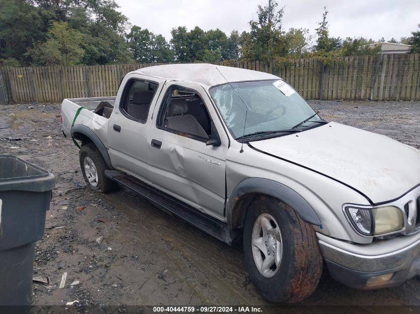
<instances>
[{"instance_id":1,"label":"pickup's headlight with yellowed lens above the chrome bumper","mask_svg":"<svg viewBox=\"0 0 420 314\"><path fill-rule=\"evenodd\" d=\"M347 206L345 212L350 223L365 236L378 236L403 228L402 211L395 206L360 208Z\"/></svg>"}]
</instances>

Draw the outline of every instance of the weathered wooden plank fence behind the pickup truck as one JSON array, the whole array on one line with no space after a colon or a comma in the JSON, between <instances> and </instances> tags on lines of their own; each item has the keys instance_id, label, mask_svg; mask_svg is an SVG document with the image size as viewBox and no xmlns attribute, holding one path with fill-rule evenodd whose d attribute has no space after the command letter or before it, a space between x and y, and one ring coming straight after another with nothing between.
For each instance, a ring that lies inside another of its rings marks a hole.
<instances>
[{"instance_id":1,"label":"weathered wooden plank fence behind the pickup truck","mask_svg":"<svg viewBox=\"0 0 420 314\"><path fill-rule=\"evenodd\" d=\"M329 65L317 59L217 64L278 75L307 99L420 100L420 54L343 57ZM0 76L9 101L53 102L115 95L125 74L151 65L157 63L3 67Z\"/></svg>"}]
</instances>

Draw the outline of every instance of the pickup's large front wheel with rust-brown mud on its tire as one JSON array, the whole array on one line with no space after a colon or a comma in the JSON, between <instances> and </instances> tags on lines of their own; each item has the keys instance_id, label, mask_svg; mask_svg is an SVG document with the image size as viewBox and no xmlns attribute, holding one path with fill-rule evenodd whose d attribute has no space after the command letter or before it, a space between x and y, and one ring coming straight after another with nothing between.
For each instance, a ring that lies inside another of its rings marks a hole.
<instances>
[{"instance_id":1,"label":"pickup's large front wheel with rust-brown mud on its tire","mask_svg":"<svg viewBox=\"0 0 420 314\"><path fill-rule=\"evenodd\" d=\"M264 299L297 303L316 289L323 257L312 225L288 205L259 196L244 222L244 255L250 278Z\"/></svg>"}]
</instances>

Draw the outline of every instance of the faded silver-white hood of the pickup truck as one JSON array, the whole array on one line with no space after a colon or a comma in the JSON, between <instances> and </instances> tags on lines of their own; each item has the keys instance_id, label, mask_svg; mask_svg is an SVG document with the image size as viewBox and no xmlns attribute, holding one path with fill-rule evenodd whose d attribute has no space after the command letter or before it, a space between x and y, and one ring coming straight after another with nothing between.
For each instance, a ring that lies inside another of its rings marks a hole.
<instances>
[{"instance_id":1,"label":"faded silver-white hood of the pickup truck","mask_svg":"<svg viewBox=\"0 0 420 314\"><path fill-rule=\"evenodd\" d=\"M395 199L420 184L420 150L351 126L331 122L250 144L345 183L373 203Z\"/></svg>"}]
</instances>

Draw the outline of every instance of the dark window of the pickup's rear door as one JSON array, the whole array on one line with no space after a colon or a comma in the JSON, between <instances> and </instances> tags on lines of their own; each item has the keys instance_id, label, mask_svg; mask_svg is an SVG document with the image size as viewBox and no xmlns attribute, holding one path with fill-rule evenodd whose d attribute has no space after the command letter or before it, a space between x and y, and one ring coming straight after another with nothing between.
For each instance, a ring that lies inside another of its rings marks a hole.
<instances>
[{"instance_id":1,"label":"dark window of the pickup's rear door","mask_svg":"<svg viewBox=\"0 0 420 314\"><path fill-rule=\"evenodd\" d=\"M121 112L129 119L145 123L149 107L155 96L158 84L154 82L130 80L124 90Z\"/></svg>"}]
</instances>

